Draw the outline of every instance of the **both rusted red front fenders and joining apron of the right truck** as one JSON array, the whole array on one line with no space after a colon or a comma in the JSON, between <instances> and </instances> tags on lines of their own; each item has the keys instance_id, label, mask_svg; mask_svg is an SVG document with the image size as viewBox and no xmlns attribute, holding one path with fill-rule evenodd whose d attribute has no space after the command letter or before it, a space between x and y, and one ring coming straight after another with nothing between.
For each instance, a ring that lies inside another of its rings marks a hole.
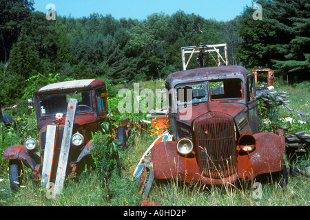
<instances>
[{"instance_id":1,"label":"both rusted red front fenders and joining apron of the right truck","mask_svg":"<svg viewBox=\"0 0 310 220\"><path fill-rule=\"evenodd\" d=\"M152 162L156 179L180 178L190 183L191 180L203 184L223 184L240 179L253 179L263 173L275 173L283 170L282 137L275 133L256 133L256 148L249 154L239 150L237 172L225 179L211 179L200 175L194 153L179 155L177 142L161 142L152 148Z\"/></svg>"}]
</instances>

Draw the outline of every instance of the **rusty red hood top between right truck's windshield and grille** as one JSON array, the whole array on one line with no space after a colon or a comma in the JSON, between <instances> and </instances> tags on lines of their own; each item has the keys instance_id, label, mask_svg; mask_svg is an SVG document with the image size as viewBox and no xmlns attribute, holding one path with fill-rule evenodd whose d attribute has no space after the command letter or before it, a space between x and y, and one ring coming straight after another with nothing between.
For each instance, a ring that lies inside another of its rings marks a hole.
<instances>
[{"instance_id":1,"label":"rusty red hood top between right truck's windshield and grille","mask_svg":"<svg viewBox=\"0 0 310 220\"><path fill-rule=\"evenodd\" d=\"M191 126L192 122L200 115L204 115L209 111L218 111L220 113L225 113L227 115L231 115L231 117L235 118L240 112L246 109L245 104L242 103L223 103L223 102L204 102L202 104L197 104L192 107L187 107L184 110L184 113L180 113L180 111L176 114L176 120L181 123L188 124ZM188 114L189 116L192 114L192 117L185 117L186 120L183 120L182 115Z\"/></svg>"}]
</instances>

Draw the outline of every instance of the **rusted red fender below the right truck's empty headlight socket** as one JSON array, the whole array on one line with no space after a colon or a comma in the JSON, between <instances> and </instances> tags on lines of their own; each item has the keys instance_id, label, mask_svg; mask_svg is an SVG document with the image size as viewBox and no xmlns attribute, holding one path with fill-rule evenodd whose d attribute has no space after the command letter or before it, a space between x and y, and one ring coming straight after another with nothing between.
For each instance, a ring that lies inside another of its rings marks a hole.
<instances>
[{"instance_id":1,"label":"rusted red fender below the right truck's empty headlight socket","mask_svg":"<svg viewBox=\"0 0 310 220\"><path fill-rule=\"evenodd\" d=\"M284 168L282 138L275 133L256 133L256 148L249 155L238 155L238 177L253 179L263 173L280 172ZM239 151L240 152L240 151Z\"/></svg>"}]
</instances>

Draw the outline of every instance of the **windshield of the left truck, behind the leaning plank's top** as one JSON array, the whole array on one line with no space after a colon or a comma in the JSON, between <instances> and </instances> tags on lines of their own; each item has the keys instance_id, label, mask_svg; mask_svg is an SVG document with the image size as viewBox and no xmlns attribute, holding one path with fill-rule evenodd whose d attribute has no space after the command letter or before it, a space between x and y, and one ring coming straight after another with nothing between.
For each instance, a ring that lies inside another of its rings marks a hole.
<instances>
[{"instance_id":1,"label":"windshield of the left truck, behind the leaning plank's top","mask_svg":"<svg viewBox=\"0 0 310 220\"><path fill-rule=\"evenodd\" d=\"M70 98L77 100L76 113L92 111L92 98L90 91L75 92L72 94L54 94L39 97L41 116L67 113Z\"/></svg>"}]
</instances>

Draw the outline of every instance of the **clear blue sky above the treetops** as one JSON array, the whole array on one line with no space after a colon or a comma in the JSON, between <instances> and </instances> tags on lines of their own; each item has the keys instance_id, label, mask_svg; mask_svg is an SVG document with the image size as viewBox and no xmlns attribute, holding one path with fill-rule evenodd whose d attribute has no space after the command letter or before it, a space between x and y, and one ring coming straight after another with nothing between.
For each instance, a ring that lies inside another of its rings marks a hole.
<instances>
[{"instance_id":1,"label":"clear blue sky above the treetops","mask_svg":"<svg viewBox=\"0 0 310 220\"><path fill-rule=\"evenodd\" d=\"M147 19L155 12L173 14L183 10L187 14L197 14L205 19L229 21L239 15L251 0L34 0L37 11L48 12L46 5L53 3L56 13L69 17L89 17L90 14L112 14L115 19Z\"/></svg>"}]
</instances>

